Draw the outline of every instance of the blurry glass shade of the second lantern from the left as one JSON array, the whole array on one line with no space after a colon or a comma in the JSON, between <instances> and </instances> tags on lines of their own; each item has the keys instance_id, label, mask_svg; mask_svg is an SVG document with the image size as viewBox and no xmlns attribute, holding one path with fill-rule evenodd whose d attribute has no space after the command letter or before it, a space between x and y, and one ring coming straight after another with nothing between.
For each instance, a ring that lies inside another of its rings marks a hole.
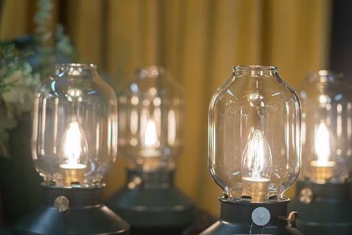
<instances>
[{"instance_id":1,"label":"blurry glass shade of the second lantern from the left","mask_svg":"<svg viewBox=\"0 0 352 235\"><path fill-rule=\"evenodd\" d=\"M130 169L173 169L183 147L184 96L161 66L139 68L118 95L120 153Z\"/></svg>"}]
</instances>

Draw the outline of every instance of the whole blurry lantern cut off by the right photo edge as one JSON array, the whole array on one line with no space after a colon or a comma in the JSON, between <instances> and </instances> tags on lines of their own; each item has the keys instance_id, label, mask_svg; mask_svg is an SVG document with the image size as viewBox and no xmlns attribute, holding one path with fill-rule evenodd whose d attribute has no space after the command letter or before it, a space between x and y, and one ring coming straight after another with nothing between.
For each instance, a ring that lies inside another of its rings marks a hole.
<instances>
[{"instance_id":1,"label":"whole blurry lantern cut off by the right photo edge","mask_svg":"<svg viewBox=\"0 0 352 235\"><path fill-rule=\"evenodd\" d=\"M302 102L302 174L291 207L304 234L352 231L352 88L342 74L307 73Z\"/></svg>"}]
</instances>

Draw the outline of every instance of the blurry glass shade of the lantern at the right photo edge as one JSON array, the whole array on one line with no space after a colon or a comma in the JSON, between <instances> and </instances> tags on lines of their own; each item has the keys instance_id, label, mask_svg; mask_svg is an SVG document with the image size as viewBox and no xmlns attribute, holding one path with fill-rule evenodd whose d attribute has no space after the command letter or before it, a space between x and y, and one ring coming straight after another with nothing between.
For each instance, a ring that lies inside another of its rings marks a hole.
<instances>
[{"instance_id":1,"label":"blurry glass shade of the lantern at the right photo edge","mask_svg":"<svg viewBox=\"0 0 352 235\"><path fill-rule=\"evenodd\" d=\"M299 84L302 175L313 182L345 182L352 170L352 94L341 74L311 72Z\"/></svg>"}]
</instances>

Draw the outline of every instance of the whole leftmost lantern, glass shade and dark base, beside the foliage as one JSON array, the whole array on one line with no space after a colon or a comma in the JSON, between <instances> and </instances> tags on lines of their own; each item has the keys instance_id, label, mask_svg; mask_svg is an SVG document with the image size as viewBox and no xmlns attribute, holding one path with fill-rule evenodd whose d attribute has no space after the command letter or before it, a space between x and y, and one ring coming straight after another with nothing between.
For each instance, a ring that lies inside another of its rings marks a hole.
<instances>
[{"instance_id":1,"label":"whole leftmost lantern, glass shade and dark base, beside the foliage","mask_svg":"<svg viewBox=\"0 0 352 235\"><path fill-rule=\"evenodd\" d=\"M117 100L93 64L56 65L35 94L33 161L41 205L15 225L22 234L129 234L102 203L102 177L117 153Z\"/></svg>"}]
</instances>

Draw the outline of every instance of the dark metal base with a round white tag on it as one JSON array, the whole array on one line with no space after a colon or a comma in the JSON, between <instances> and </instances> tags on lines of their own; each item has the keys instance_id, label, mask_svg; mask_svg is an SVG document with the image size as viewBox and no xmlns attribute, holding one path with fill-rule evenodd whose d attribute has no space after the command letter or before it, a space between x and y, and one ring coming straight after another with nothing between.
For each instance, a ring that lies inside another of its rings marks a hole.
<instances>
[{"instance_id":1,"label":"dark metal base with a round white tag on it","mask_svg":"<svg viewBox=\"0 0 352 235\"><path fill-rule=\"evenodd\" d=\"M297 223L299 217L287 216L289 199L269 202L250 203L219 198L221 203L220 220L205 229L199 235L232 235L232 234L277 234L302 235L290 226L289 221ZM297 214L295 215L297 216ZM255 223L265 225L256 225Z\"/></svg>"}]
</instances>

